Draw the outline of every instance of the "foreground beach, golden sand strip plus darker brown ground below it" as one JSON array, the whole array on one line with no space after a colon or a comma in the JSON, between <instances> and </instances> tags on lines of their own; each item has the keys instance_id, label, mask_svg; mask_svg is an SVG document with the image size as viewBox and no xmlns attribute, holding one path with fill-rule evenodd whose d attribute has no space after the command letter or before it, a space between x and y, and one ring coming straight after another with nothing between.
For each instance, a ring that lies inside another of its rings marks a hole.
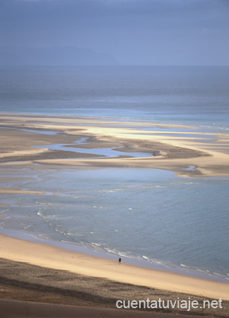
<instances>
[{"instance_id":1,"label":"foreground beach, golden sand strip plus darker brown ground below it","mask_svg":"<svg viewBox=\"0 0 229 318\"><path fill-rule=\"evenodd\" d=\"M197 300L201 304L204 300L221 298L223 309L199 307L191 312L196 314L194 317L218 317L218 314L228 317L228 283L207 281L125 263L119 265L118 261L111 259L4 235L1 235L0 242L1 299L15 300L19 302L19 307L22 307L20 301L36 301L114 310L117 300L160 298L165 301ZM8 302L0 304L9 310L6 306ZM147 311L151 312L150 309ZM181 308L153 310L153 314L157 312L168 314L168 317L174 317L170 313L189 313ZM122 310L121 313L116 310L116 314L122 314ZM107 317L113 316L107 314Z\"/></svg>"}]
</instances>

